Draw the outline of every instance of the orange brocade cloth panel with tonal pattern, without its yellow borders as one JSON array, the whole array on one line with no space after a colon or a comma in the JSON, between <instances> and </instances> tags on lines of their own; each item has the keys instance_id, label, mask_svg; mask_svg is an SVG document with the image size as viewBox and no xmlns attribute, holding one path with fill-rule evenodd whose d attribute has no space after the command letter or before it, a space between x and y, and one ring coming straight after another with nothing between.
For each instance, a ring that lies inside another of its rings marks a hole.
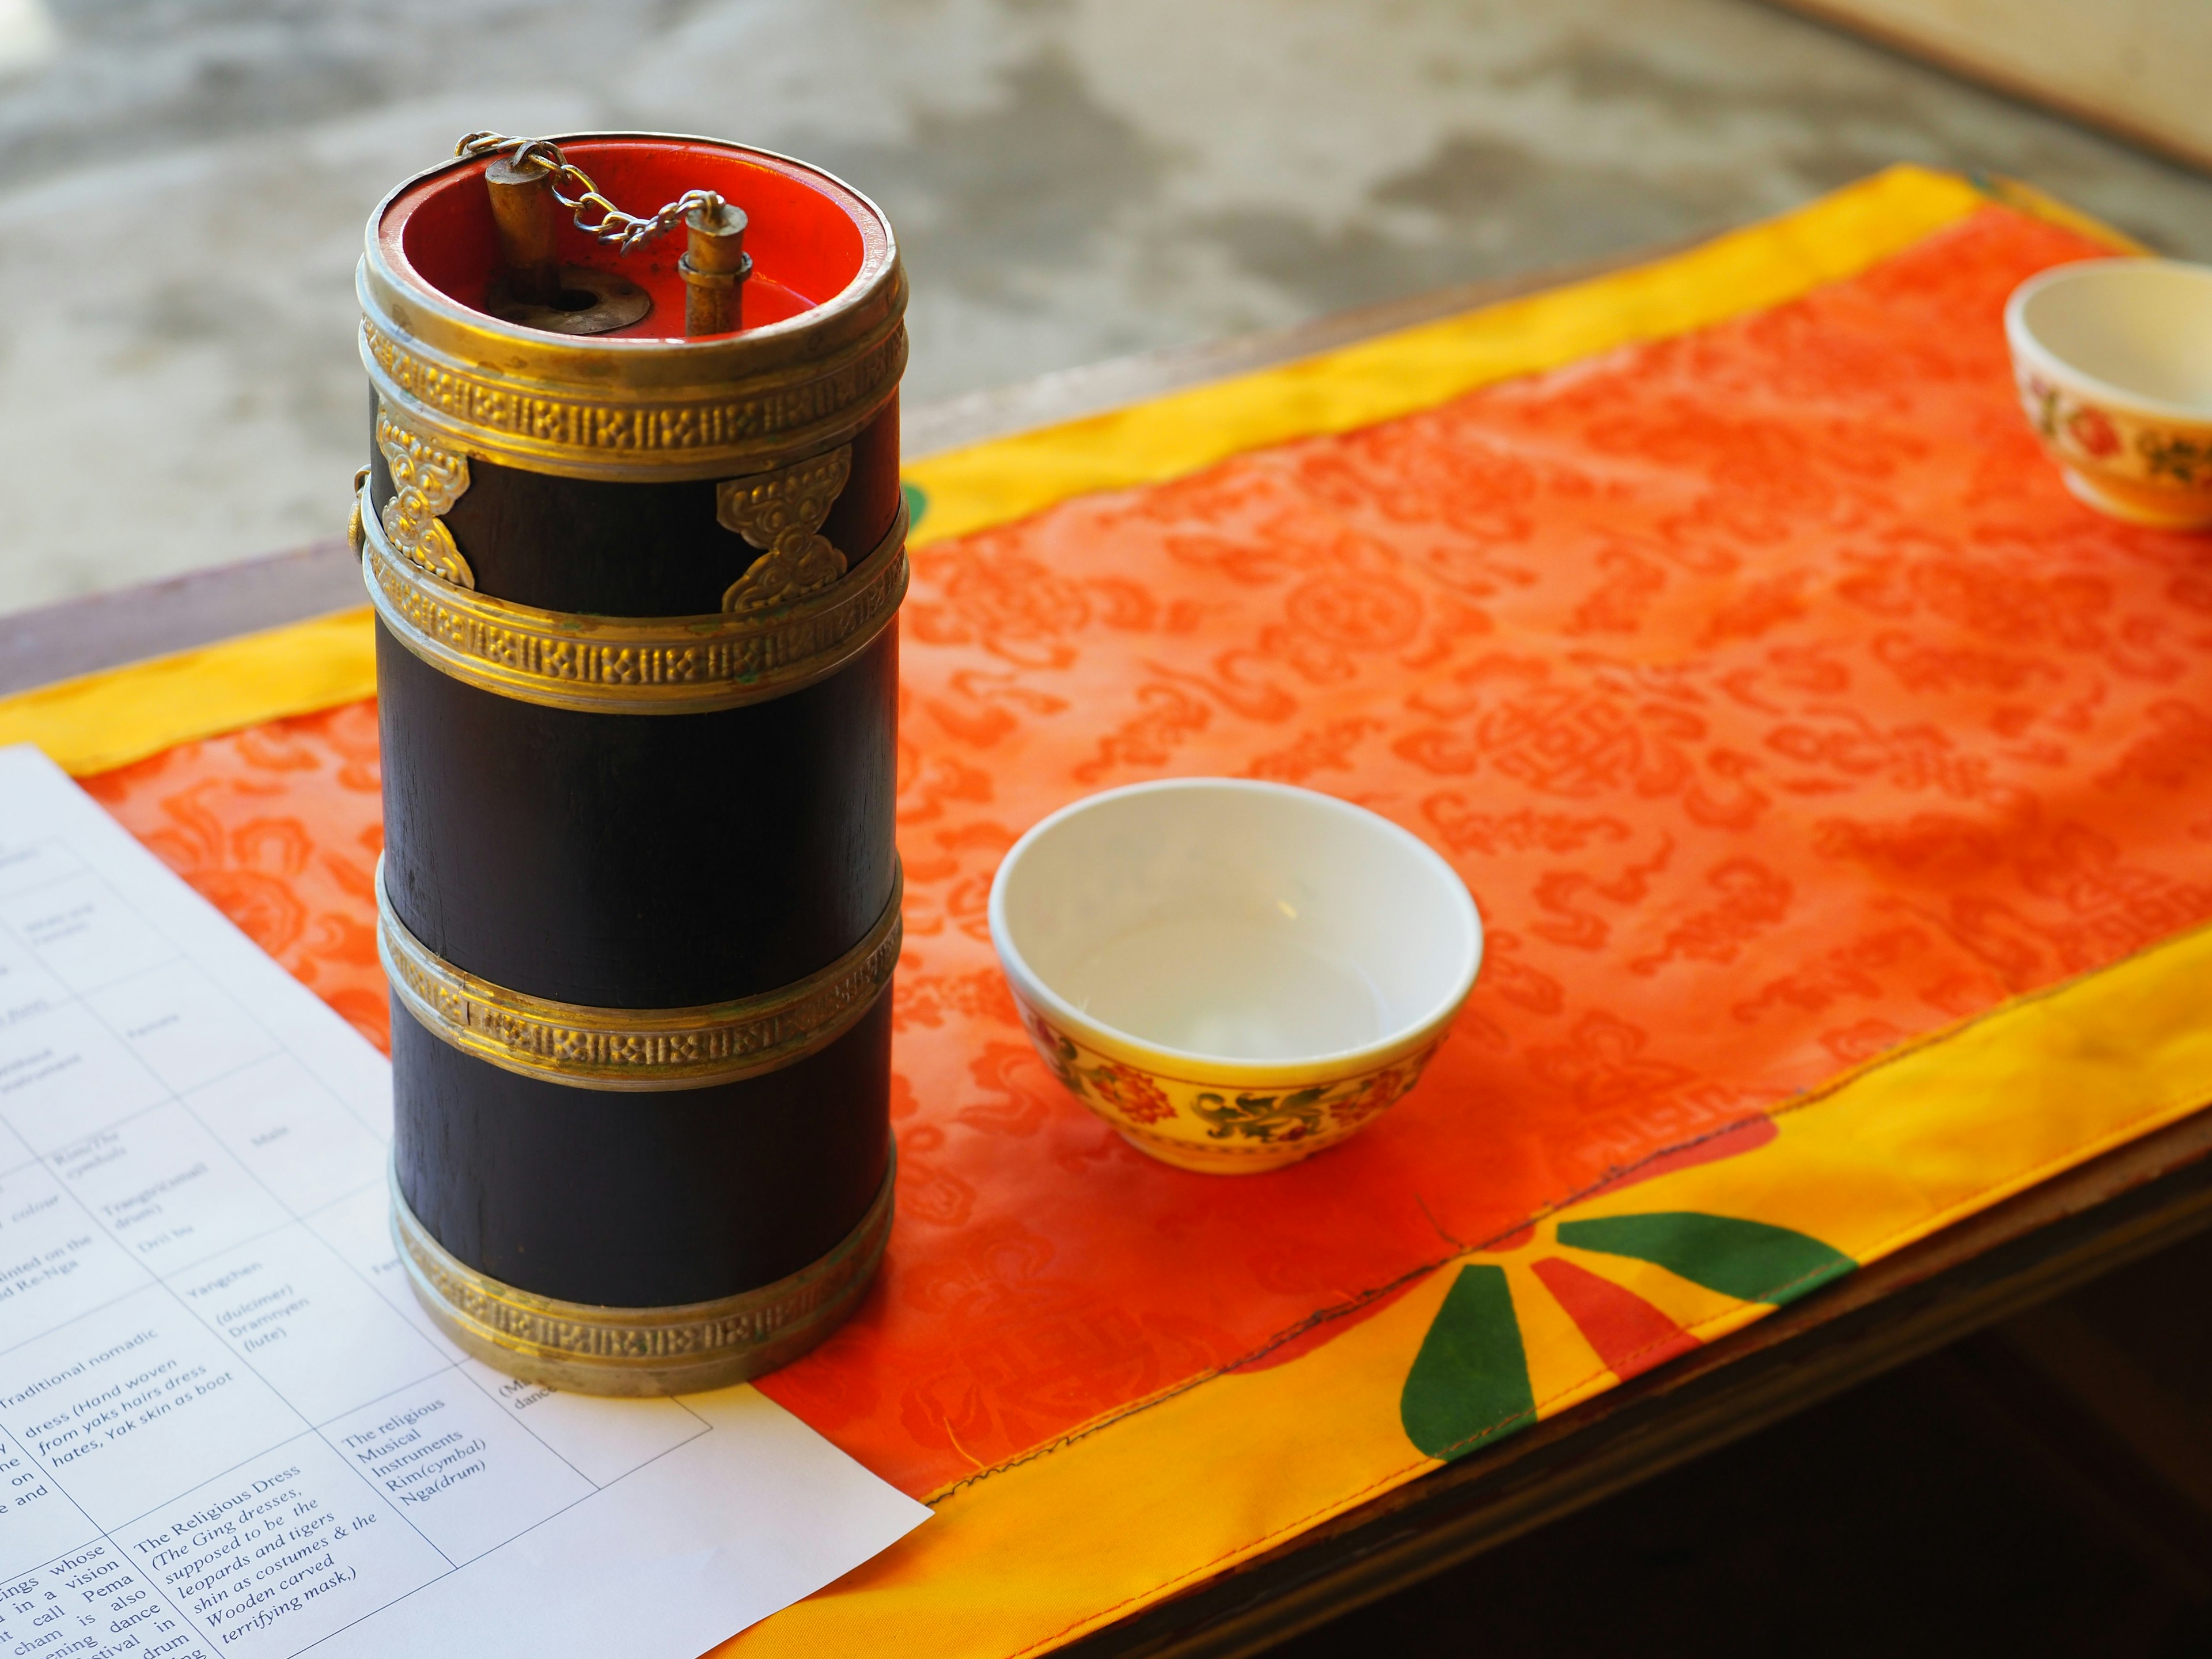
<instances>
[{"instance_id":1,"label":"orange brocade cloth panel with tonal pattern, without its yellow borders","mask_svg":"<svg viewBox=\"0 0 2212 1659\"><path fill-rule=\"evenodd\" d=\"M2011 288L2093 252L1986 208L1759 316L916 549L898 1228L763 1389L927 1493L2212 916L2212 544L2066 495L2006 365ZM991 958L1013 838L1159 774L1374 807L1489 925L1420 1086L1274 1175L1130 1148ZM378 1029L365 710L93 787Z\"/></svg>"}]
</instances>

